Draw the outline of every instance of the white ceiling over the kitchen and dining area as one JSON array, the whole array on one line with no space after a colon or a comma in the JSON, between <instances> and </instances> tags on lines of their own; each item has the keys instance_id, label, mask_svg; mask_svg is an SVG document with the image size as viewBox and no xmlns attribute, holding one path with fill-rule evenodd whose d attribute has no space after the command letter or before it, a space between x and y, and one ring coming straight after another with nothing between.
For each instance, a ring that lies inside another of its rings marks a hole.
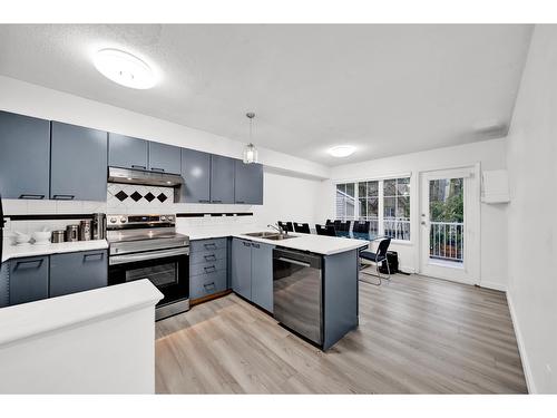
<instances>
[{"instance_id":1,"label":"white ceiling over the kitchen and dining area","mask_svg":"<svg viewBox=\"0 0 557 418\"><path fill-rule=\"evenodd\" d=\"M0 74L326 165L502 136L528 50L525 25L0 25ZM160 72L105 79L115 47ZM492 128L496 126L496 128ZM333 145L358 152L336 159Z\"/></svg>"}]
</instances>

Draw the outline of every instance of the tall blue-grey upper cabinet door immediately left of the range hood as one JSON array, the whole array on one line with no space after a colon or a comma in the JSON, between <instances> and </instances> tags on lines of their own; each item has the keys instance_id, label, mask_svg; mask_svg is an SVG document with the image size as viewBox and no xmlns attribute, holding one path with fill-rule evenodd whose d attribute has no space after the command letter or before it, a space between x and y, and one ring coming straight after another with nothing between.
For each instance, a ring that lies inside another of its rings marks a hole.
<instances>
[{"instance_id":1,"label":"tall blue-grey upper cabinet door immediately left of the range hood","mask_svg":"<svg viewBox=\"0 0 557 418\"><path fill-rule=\"evenodd\" d=\"M50 197L106 201L107 133L52 121Z\"/></svg>"}]
</instances>

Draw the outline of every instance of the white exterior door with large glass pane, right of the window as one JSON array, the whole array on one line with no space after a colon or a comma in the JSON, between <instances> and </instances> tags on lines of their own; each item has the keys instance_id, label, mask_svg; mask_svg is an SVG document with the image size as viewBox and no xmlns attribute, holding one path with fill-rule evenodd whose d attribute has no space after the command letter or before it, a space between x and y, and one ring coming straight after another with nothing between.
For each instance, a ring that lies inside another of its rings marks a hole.
<instances>
[{"instance_id":1,"label":"white exterior door with large glass pane, right of the window","mask_svg":"<svg viewBox=\"0 0 557 418\"><path fill-rule=\"evenodd\" d=\"M479 185L476 167L421 173L420 272L479 284Z\"/></svg>"}]
</instances>

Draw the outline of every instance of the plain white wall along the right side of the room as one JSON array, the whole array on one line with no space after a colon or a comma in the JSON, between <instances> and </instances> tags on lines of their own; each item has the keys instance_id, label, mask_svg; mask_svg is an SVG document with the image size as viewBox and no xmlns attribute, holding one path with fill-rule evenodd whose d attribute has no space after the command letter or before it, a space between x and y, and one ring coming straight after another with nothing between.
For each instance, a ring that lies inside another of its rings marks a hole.
<instances>
[{"instance_id":1,"label":"plain white wall along the right side of the room","mask_svg":"<svg viewBox=\"0 0 557 418\"><path fill-rule=\"evenodd\" d=\"M530 392L557 392L557 27L535 28L507 144L508 300Z\"/></svg>"}]
</instances>

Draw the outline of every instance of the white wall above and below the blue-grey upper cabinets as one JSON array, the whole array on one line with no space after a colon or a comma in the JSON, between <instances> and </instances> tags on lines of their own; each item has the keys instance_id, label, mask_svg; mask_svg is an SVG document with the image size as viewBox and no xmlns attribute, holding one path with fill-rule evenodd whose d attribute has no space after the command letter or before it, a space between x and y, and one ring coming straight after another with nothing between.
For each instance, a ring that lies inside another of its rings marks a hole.
<instances>
[{"instance_id":1,"label":"white wall above and below the blue-grey upper cabinets","mask_svg":"<svg viewBox=\"0 0 557 418\"><path fill-rule=\"evenodd\" d=\"M31 85L0 76L0 109L23 115L60 120L97 129L153 139L160 143L201 149L208 153L242 156L244 143L198 129L173 124L82 97ZM243 123L238 120L238 123ZM266 221L300 218L313 221L316 179L328 178L330 168L271 149L260 148L260 162L265 165L264 205L179 204L177 212L250 212ZM312 179L313 178L313 179ZM293 197L289 197L292 195ZM119 208L91 202L7 202L10 214L28 213L115 213ZM126 211L124 213L127 213ZM265 222L266 222L265 221Z\"/></svg>"}]
</instances>

